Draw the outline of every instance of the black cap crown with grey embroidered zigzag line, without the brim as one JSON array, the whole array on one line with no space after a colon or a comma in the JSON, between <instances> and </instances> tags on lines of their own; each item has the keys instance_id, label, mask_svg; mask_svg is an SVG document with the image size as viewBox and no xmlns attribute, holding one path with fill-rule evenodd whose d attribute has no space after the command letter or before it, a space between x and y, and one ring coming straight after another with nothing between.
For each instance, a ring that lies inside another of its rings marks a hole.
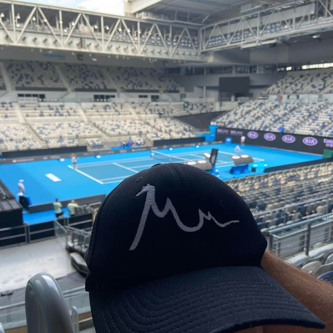
<instances>
[{"instance_id":1,"label":"black cap crown with grey embroidered zigzag line, without the brim","mask_svg":"<svg viewBox=\"0 0 333 333\"><path fill-rule=\"evenodd\" d=\"M168 163L125 179L107 196L85 259L91 276L106 273L108 283L130 286L208 267L260 265L266 246L228 185Z\"/></svg>"}]
</instances>

